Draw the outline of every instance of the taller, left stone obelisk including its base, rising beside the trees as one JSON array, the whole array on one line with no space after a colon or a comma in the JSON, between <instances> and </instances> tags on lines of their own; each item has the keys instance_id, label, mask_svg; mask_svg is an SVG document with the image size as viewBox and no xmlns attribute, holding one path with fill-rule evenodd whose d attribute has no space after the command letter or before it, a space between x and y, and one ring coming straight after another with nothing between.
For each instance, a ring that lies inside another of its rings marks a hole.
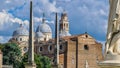
<instances>
[{"instance_id":1,"label":"taller, left stone obelisk including its base, rising beside the trees","mask_svg":"<svg viewBox=\"0 0 120 68\"><path fill-rule=\"evenodd\" d=\"M32 16L32 1L30 1L28 64L25 66L25 68L36 68L36 64L34 63L34 33Z\"/></svg>"}]
</instances>

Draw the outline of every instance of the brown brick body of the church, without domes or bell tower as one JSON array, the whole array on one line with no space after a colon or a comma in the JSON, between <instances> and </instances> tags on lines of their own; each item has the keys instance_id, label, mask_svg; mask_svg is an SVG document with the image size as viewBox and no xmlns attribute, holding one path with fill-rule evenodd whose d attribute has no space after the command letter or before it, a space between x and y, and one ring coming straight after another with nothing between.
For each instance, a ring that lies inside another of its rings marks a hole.
<instances>
[{"instance_id":1,"label":"brown brick body of the church, without domes or bell tower","mask_svg":"<svg viewBox=\"0 0 120 68\"><path fill-rule=\"evenodd\" d=\"M35 52L48 56L54 62L54 40L35 44ZM60 39L60 65L62 68L99 68L103 59L102 44L89 34L66 36Z\"/></svg>"}]
</instances>

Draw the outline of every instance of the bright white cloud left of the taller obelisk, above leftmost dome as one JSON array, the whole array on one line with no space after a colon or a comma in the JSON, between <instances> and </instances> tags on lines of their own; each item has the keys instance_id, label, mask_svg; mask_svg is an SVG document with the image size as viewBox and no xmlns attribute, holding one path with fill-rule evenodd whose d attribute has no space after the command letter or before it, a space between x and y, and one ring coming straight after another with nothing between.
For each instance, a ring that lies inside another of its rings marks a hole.
<instances>
[{"instance_id":1,"label":"bright white cloud left of the taller obelisk, above leftmost dome","mask_svg":"<svg viewBox=\"0 0 120 68\"><path fill-rule=\"evenodd\" d=\"M20 18L15 18L12 14L2 11L0 12L0 30L9 29L10 27L14 27L14 23L17 24L25 24L28 26L28 20L22 20Z\"/></svg>"}]
</instances>

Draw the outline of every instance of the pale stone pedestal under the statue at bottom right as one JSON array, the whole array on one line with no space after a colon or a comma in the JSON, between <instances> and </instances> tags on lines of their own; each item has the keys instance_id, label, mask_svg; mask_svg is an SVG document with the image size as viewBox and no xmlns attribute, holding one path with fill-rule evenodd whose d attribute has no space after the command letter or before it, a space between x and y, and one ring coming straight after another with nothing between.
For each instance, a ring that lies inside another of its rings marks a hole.
<instances>
[{"instance_id":1,"label":"pale stone pedestal under the statue at bottom right","mask_svg":"<svg viewBox=\"0 0 120 68\"><path fill-rule=\"evenodd\" d=\"M107 55L105 60L98 63L100 68L120 68L120 55Z\"/></svg>"}]
</instances>

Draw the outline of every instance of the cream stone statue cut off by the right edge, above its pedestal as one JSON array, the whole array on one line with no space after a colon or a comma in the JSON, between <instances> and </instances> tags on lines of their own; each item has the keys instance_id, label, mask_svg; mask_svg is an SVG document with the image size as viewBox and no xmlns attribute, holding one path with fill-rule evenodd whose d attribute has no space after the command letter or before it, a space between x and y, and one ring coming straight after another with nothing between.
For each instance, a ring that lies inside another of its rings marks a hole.
<instances>
[{"instance_id":1,"label":"cream stone statue cut off by the right edge, above its pedestal","mask_svg":"<svg viewBox=\"0 0 120 68\"><path fill-rule=\"evenodd\" d=\"M105 54L120 55L120 0L110 0Z\"/></svg>"}]
</instances>

